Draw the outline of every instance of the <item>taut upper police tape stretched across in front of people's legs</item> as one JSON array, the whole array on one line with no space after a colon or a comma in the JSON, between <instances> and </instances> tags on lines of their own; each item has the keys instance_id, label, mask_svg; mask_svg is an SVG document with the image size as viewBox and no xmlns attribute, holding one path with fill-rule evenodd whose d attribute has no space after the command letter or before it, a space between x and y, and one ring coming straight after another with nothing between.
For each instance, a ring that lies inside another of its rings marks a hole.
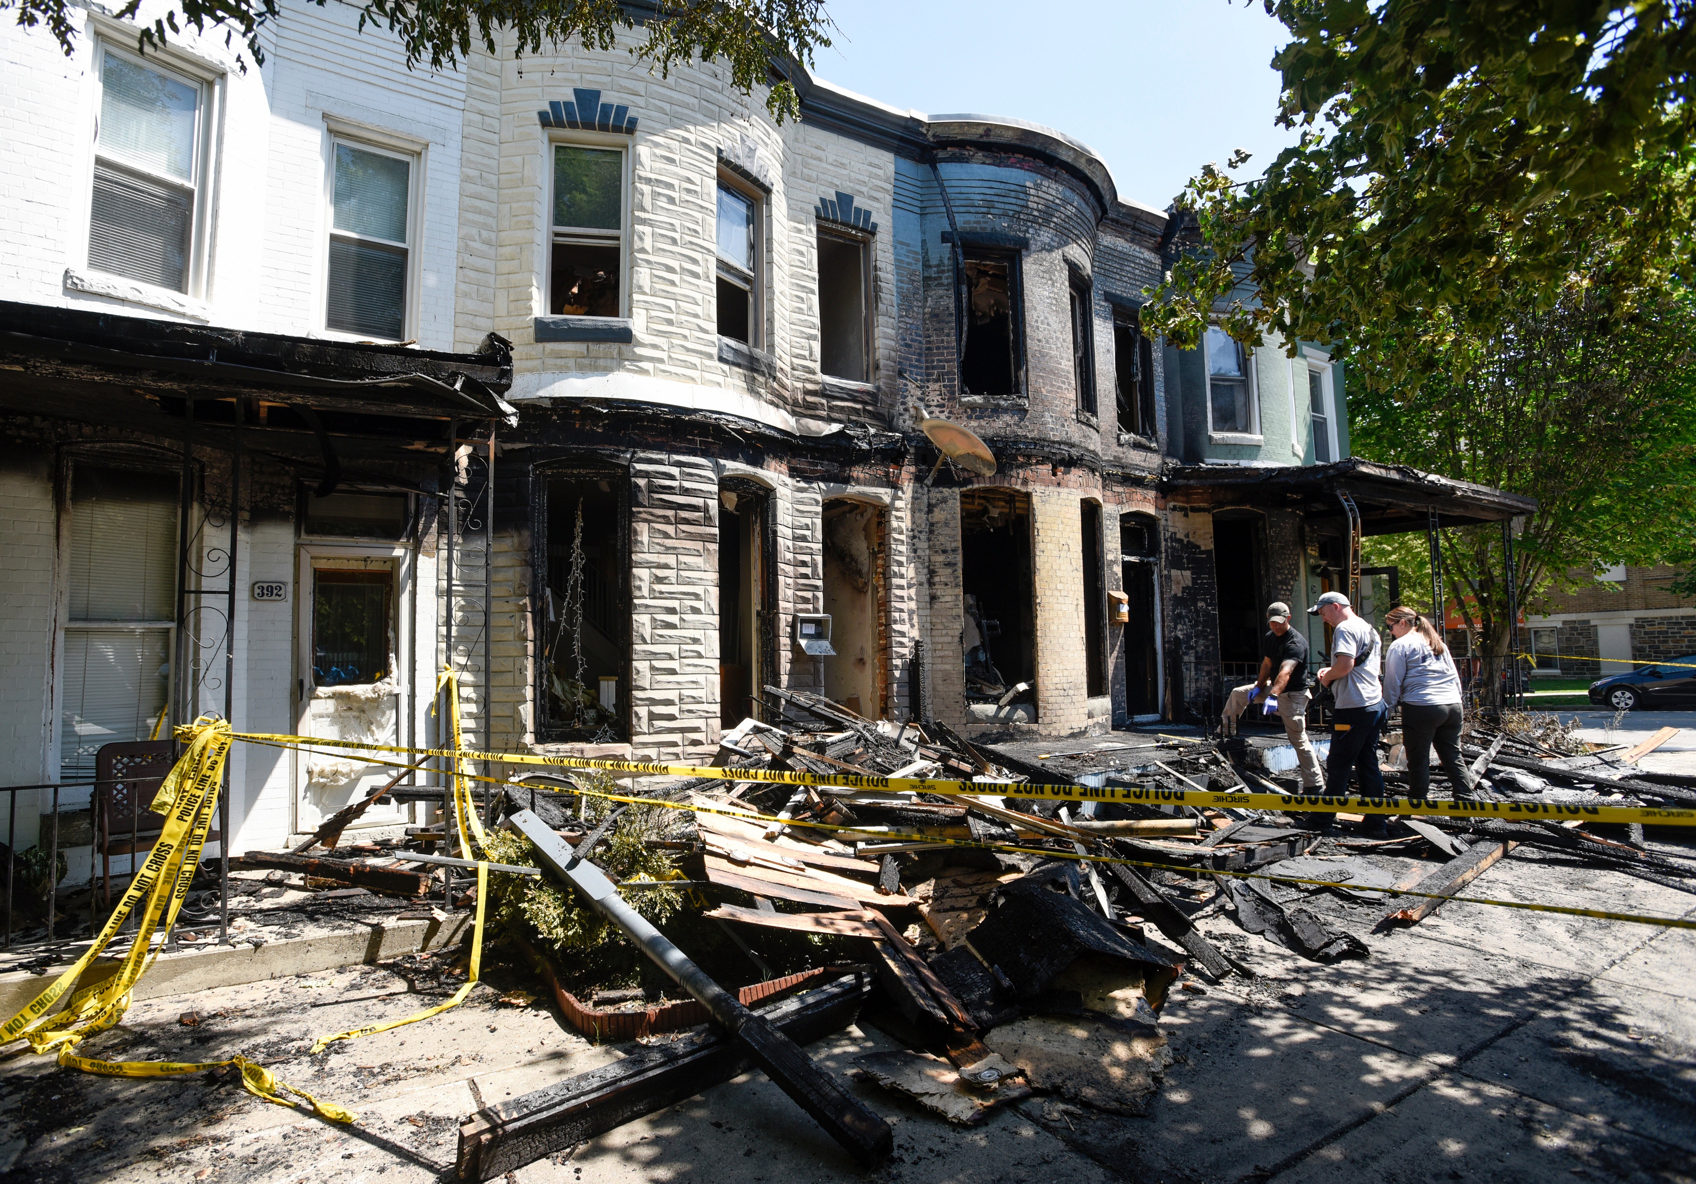
<instances>
[{"instance_id":1,"label":"taut upper police tape stretched across in front of people's legs","mask_svg":"<svg viewBox=\"0 0 1696 1184\"><path fill-rule=\"evenodd\" d=\"M812 785L816 789L850 789L855 792L919 794L996 794L1067 802L1109 802L1130 806L1196 806L1214 809L1274 809L1296 813L1352 814L1431 814L1438 818L1569 819L1587 823L1655 823L1662 826L1696 826L1696 809L1660 809L1654 806L1574 806L1565 802L1479 802L1431 801L1426 797L1353 797L1348 794L1252 794L1213 792L1206 789L1163 789L1153 785L1033 785L1026 782L936 780L929 777L880 777L863 774L809 774L787 768L719 768L716 765L668 765L655 760L612 760L607 757L548 757L539 753L490 753L466 748L405 748L370 745L354 740L287 736L275 733L236 733L236 740L271 743L285 748L305 745L349 748L354 751L397 753L409 757L448 757L485 765L538 765L543 768L580 768L641 777L700 777L714 780L770 782L777 785ZM383 762L371 762L382 765ZM456 774L466 777L465 774ZM477 779L487 780L487 779ZM507 784L505 779L497 784ZM458 797L458 790L456 790ZM473 811L475 816L475 811Z\"/></svg>"}]
</instances>

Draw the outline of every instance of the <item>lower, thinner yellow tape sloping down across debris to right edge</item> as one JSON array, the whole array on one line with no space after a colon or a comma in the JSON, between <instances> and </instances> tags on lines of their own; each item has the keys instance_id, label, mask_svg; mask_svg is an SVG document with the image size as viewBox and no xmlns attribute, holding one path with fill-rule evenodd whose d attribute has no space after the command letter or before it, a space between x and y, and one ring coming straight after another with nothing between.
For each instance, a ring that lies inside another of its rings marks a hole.
<instances>
[{"instance_id":1,"label":"lower, thinner yellow tape sloping down across debris to right edge","mask_svg":"<svg viewBox=\"0 0 1696 1184\"><path fill-rule=\"evenodd\" d=\"M268 746L273 746L273 748L297 748L300 751L309 751L310 745L315 743L315 741L312 741L309 738L295 738L295 740L307 740L305 745L285 745L285 743L278 743L275 740L258 740L258 738L253 738L253 736L249 736L249 740L253 743L268 745ZM417 751L426 751L426 750L417 750ZM383 767L383 768L412 768L412 770L426 772L424 765L407 765L407 763L392 762L392 760L371 760L370 763ZM748 770L743 770L743 772L748 772ZM466 780L485 782L485 784L490 784L490 785L510 785L512 784L510 780L507 780L504 777L485 777L485 775L478 775L478 774L465 774L465 779ZM738 780L751 780L751 779L738 779ZM512 785L512 787L514 789L527 789L526 785ZM1004 782L982 782L982 784L979 784L979 787L982 790L992 790L996 796L1004 796L1001 790L1007 789L1007 785ZM695 814L717 814L721 818L738 818L738 819L743 819L743 821L748 821L748 823L777 823L778 826L797 826L797 828L821 829L821 831L831 831L831 833L867 835L868 838L877 838L879 841L884 841L884 843L890 843L890 841L895 841L895 843L899 843L899 841L914 841L914 843L928 843L928 845L941 845L941 846L963 846L963 848L972 848L972 850L980 850L980 852L1006 852L1006 853L1011 853L1011 855L1038 855L1038 857L1043 857L1043 858L1074 860L1074 862L1079 862L1079 863L1119 863L1119 865L1124 865L1124 867L1152 868L1152 870L1157 870L1157 872L1182 872L1182 874L1191 874L1191 875L1201 872L1201 874L1208 874L1208 875L1216 875L1216 877L1225 875L1225 877L1240 879L1240 880L1269 880L1272 884L1309 884L1309 885L1314 885L1314 887L1336 887L1335 880L1308 880L1308 879L1301 879L1301 877L1294 877L1294 875L1269 875L1265 872L1231 872L1231 870L1223 870L1223 868L1197 868L1197 867L1191 867L1191 865L1184 865L1184 863L1160 863L1160 862L1155 862L1155 860L1133 860L1133 858L1124 858L1124 857L1119 857L1119 855L1085 855L1082 852L1068 853L1068 852L1057 852L1057 850L1050 850L1050 848L1043 848L1043 846L1018 846L1014 843L987 843L987 841L982 841L982 840L941 838L941 836L936 836L936 835L904 833L904 831L890 831L890 829L872 829L872 828L865 828L865 826L851 826L851 824L843 824L843 823L814 823L814 821L809 821L809 819L797 819L797 818L775 818L772 814L760 814L760 813L748 811L748 809L724 809L724 807L695 804L695 802L672 802L672 801L665 801L661 797L639 797L639 796L633 796L633 794L609 794L605 790L587 789L587 787L582 787L582 785L575 787L573 790L566 790L566 792L577 792L577 794L583 794L583 796L589 796L589 797L599 797L599 799L611 801L611 802L626 802L626 804L631 804L631 806L658 806L658 807L663 807L663 809L678 809L678 811L689 811L689 813L695 813ZM1267 794L1267 797L1275 797L1275 796L1274 794ZM1369 799L1369 801L1377 801L1377 799ZM1038 823L1038 819L1033 819L1033 829L1036 829L1036 823ZM1094 840L1096 836L1085 836L1085 835L1079 833L1079 838ZM1445 894L1445 892L1420 892L1418 889L1396 889L1396 891L1382 889L1382 891L1387 892L1387 894L1391 894L1391 896L1411 896L1411 897L1420 897L1420 899L1426 899L1426 901L1455 901L1455 902L1460 902L1460 904L1489 904L1489 906L1494 906L1494 908L1523 909L1523 911L1528 911L1528 913L1557 913L1560 916L1582 916L1582 918L1598 918L1598 919L1603 919L1603 921L1630 921L1630 923L1635 923L1635 924L1664 924L1664 926L1676 928L1676 930L1696 930L1696 919L1688 919L1688 918L1649 916L1649 914L1640 914L1640 913L1611 913L1611 911L1606 911L1606 909L1581 909L1581 908L1565 906L1565 904L1531 904L1531 902L1526 902L1526 901L1496 901L1496 899L1482 897L1482 896L1450 896L1450 894Z\"/></svg>"}]
</instances>

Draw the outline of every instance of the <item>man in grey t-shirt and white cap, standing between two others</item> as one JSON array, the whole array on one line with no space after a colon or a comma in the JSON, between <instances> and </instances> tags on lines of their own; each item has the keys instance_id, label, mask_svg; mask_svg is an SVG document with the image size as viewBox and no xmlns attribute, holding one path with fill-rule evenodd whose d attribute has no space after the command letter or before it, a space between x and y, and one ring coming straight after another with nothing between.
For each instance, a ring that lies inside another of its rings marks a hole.
<instances>
[{"instance_id":1,"label":"man in grey t-shirt and white cap, standing between two others","mask_svg":"<svg viewBox=\"0 0 1696 1184\"><path fill-rule=\"evenodd\" d=\"M1360 775L1362 797L1384 796L1384 772L1377 763L1377 738L1389 709L1379 682L1382 656L1377 629L1355 614L1348 597L1326 592L1308 609L1331 626L1331 665L1319 672L1319 685L1336 695L1331 712L1331 755L1325 762L1325 784L1333 794L1348 792L1350 774ZM1314 816L1330 829L1330 816ZM1367 814L1360 829L1367 838L1386 838L1384 814Z\"/></svg>"}]
</instances>

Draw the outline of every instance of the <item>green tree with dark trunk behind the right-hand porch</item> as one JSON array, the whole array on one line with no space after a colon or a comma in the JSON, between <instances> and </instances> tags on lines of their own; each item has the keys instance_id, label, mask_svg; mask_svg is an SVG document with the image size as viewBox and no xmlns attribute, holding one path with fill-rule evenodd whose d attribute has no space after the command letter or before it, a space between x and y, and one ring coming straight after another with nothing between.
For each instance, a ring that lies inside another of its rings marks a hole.
<instances>
[{"instance_id":1,"label":"green tree with dark trunk behind the right-hand porch","mask_svg":"<svg viewBox=\"0 0 1696 1184\"><path fill-rule=\"evenodd\" d=\"M1523 305L1486 338L1440 336L1445 344L1411 370L1423 377L1406 385L1386 380L1384 358L1355 353L1350 373L1364 394L1350 395L1350 434L1377 460L1537 499L1515 543L1521 612L1599 567L1689 553L1696 299L1621 314L1574 285L1548 312ZM1477 638L1492 687L1513 639L1501 531L1442 536L1448 606ZM1404 595L1421 606L1425 551L1418 536L1372 541L1372 561L1403 567Z\"/></svg>"}]
</instances>

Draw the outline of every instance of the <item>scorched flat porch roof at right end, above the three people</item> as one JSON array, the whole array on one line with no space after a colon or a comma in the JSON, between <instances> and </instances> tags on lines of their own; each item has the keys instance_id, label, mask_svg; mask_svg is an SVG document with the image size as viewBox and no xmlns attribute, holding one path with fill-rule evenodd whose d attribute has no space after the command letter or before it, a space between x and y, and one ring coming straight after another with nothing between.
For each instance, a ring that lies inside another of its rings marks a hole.
<instances>
[{"instance_id":1,"label":"scorched flat porch roof at right end, above the three people","mask_svg":"<svg viewBox=\"0 0 1696 1184\"><path fill-rule=\"evenodd\" d=\"M1348 458L1333 465L1179 465L1162 482L1169 497L1209 509L1284 509L1308 521L1345 521L1338 494L1360 507L1367 534L1423 531L1435 509L1443 526L1501 522L1531 514L1537 502L1489 485L1457 482L1406 465Z\"/></svg>"}]
</instances>

